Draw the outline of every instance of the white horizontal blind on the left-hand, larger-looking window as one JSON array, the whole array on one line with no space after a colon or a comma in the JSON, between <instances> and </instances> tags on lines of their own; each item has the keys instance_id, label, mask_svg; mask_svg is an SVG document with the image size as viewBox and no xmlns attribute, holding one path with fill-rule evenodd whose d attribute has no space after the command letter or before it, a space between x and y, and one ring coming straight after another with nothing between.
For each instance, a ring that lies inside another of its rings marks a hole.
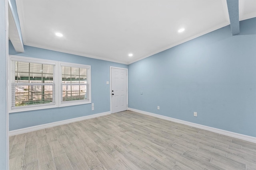
<instances>
[{"instance_id":1,"label":"white horizontal blind on the left-hand, larger-looking window","mask_svg":"<svg viewBox=\"0 0 256 170\"><path fill-rule=\"evenodd\" d=\"M55 105L55 65L12 60L11 107Z\"/></svg>"}]
</instances>

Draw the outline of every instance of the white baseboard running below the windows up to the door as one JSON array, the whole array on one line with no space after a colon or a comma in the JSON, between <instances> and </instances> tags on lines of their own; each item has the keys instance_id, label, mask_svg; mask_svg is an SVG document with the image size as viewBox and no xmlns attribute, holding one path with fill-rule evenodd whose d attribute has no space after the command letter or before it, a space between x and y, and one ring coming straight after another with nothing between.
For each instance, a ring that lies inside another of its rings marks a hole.
<instances>
[{"instance_id":1,"label":"white baseboard running below the windows up to the door","mask_svg":"<svg viewBox=\"0 0 256 170\"><path fill-rule=\"evenodd\" d=\"M47 124L43 124L43 125L32 126L32 127L26 127L26 128L23 128L23 129L17 129L17 130L9 131L9 136L18 135L18 134L22 134L22 133L28 133L28 132L32 132L32 131L37 131L37 130L45 129L45 128L48 128L48 127L64 125L64 124L72 123L72 122L75 122L75 121L82 121L82 120L85 120L85 119L92 119L92 118L95 118L95 117L100 117L100 116L109 115L109 114L111 114L111 112L107 111L107 112L104 112L104 113L97 113L97 114L94 114L94 115L76 117L76 118L73 118L73 119L67 119L67 120L63 120L63 121L56 121L56 122L47 123Z\"/></svg>"}]
</instances>

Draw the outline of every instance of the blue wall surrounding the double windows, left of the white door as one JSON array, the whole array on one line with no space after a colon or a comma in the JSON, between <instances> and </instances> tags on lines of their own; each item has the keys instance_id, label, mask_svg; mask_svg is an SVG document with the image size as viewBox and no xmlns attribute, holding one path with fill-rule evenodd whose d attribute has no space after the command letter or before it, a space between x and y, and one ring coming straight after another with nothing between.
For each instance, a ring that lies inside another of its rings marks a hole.
<instances>
[{"instance_id":1,"label":"blue wall surrounding the double windows, left of the white door","mask_svg":"<svg viewBox=\"0 0 256 170\"><path fill-rule=\"evenodd\" d=\"M83 104L69 107L58 107L54 109L10 113L10 131L110 111L110 84L106 84L106 81L110 81L110 66L128 68L128 65L60 53L26 45L24 46L24 53L16 53L10 41L9 43L10 55L91 65L92 103L94 103L94 111L92 111L91 104Z\"/></svg>"}]
</instances>

